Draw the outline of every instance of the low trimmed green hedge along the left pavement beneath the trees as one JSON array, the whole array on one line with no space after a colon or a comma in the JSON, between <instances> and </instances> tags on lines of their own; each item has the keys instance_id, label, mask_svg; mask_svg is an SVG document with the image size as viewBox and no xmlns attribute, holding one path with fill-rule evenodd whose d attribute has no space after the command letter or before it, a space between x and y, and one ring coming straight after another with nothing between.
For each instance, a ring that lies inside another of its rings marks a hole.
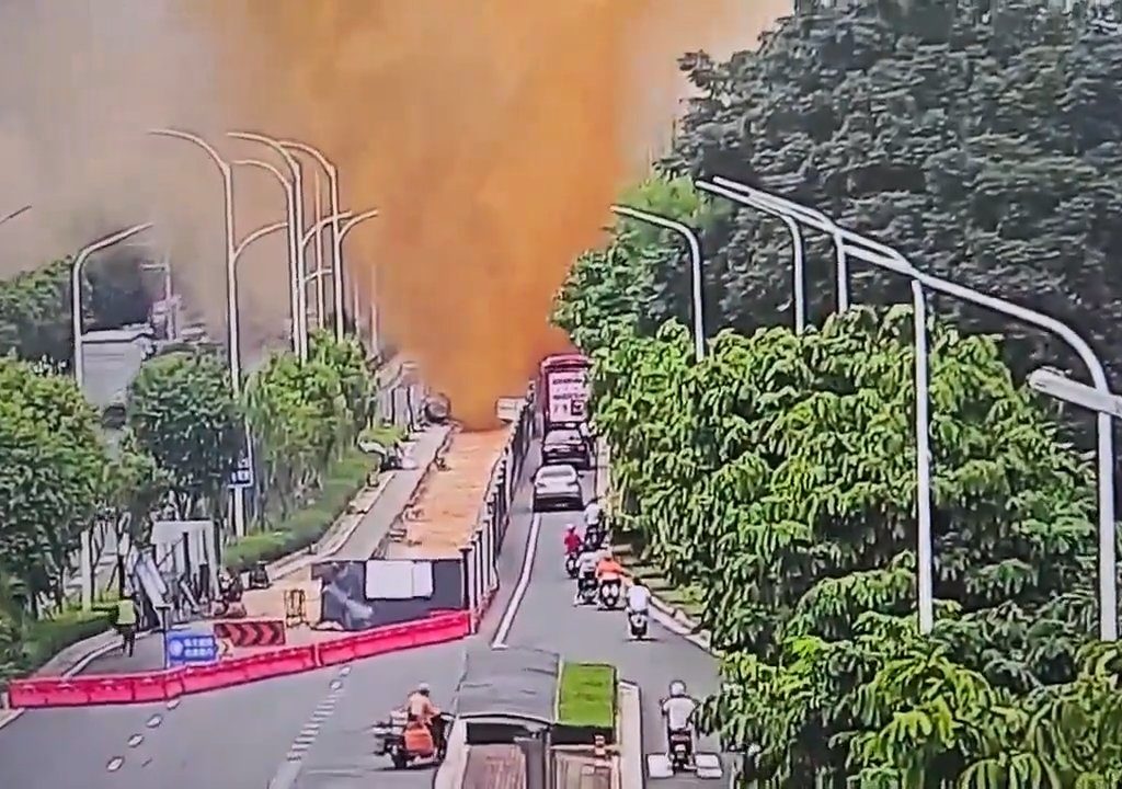
<instances>
[{"instance_id":1,"label":"low trimmed green hedge along the left pavement beneath the trees","mask_svg":"<svg viewBox=\"0 0 1122 789\"><path fill-rule=\"evenodd\" d=\"M314 504L297 510L270 531L247 534L228 544L223 566L231 572L243 572L255 562L276 561L313 545L347 512L377 462L373 455L349 450L328 469Z\"/></svg>"}]
</instances>

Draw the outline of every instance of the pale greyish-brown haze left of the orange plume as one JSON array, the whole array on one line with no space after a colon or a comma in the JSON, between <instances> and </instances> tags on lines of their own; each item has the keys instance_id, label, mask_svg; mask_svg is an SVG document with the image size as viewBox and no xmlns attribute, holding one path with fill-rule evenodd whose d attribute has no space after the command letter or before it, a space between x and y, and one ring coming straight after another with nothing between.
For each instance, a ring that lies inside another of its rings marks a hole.
<instances>
[{"instance_id":1,"label":"pale greyish-brown haze left of the orange plume","mask_svg":"<svg viewBox=\"0 0 1122 789\"><path fill-rule=\"evenodd\" d=\"M176 288L217 337L224 327L223 214L218 169L186 143L146 136L174 126L220 147L252 117L227 92L214 36L190 16L190 0L0 1L0 277L73 254L116 230L153 221L137 236L167 253ZM251 227L283 210L279 189L247 176L239 221ZM247 251L243 348L280 331L283 239ZM109 254L109 253L107 253ZM114 255L130 250L117 248ZM98 260L91 260L92 266Z\"/></svg>"}]
</instances>

